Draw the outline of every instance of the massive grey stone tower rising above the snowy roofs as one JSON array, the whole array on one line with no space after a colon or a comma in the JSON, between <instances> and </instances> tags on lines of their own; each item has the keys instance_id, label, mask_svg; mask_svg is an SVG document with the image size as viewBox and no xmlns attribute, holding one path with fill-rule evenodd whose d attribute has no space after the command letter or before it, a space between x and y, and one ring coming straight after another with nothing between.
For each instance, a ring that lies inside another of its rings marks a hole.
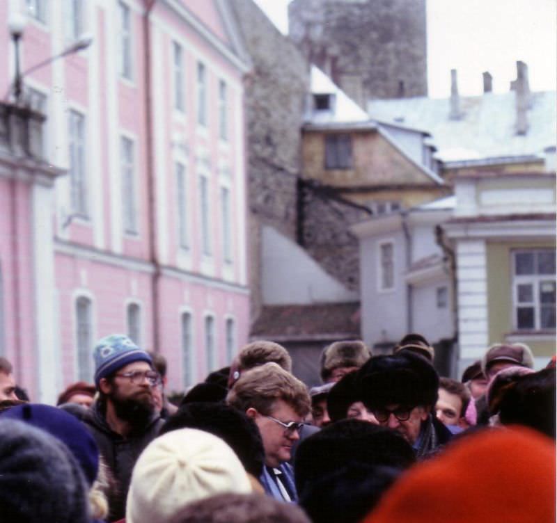
<instances>
[{"instance_id":1,"label":"massive grey stone tower rising above the snowy roofs","mask_svg":"<svg viewBox=\"0 0 557 523\"><path fill-rule=\"evenodd\" d=\"M366 108L427 96L425 0L292 0L290 38Z\"/></svg>"}]
</instances>

